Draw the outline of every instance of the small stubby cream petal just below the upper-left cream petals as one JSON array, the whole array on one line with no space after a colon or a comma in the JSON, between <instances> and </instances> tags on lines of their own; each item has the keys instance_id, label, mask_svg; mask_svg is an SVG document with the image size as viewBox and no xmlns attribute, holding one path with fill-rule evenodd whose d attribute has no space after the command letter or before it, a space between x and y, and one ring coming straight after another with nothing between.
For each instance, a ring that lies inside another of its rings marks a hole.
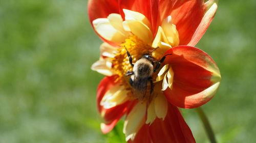
<instances>
[{"instance_id":1,"label":"small stubby cream petal just below the upper-left cream petals","mask_svg":"<svg viewBox=\"0 0 256 143\"><path fill-rule=\"evenodd\" d=\"M105 42L100 45L100 55L108 56L109 58L114 58L116 56L116 50L116 47Z\"/></svg>"}]
</instances>

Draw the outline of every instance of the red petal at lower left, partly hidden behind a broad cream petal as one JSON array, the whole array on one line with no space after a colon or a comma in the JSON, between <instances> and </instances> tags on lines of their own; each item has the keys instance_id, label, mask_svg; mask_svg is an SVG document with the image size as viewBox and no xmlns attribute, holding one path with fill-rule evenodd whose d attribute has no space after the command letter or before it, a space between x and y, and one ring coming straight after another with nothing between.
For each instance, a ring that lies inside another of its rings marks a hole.
<instances>
[{"instance_id":1,"label":"red petal at lower left, partly hidden behind a broad cream petal","mask_svg":"<svg viewBox=\"0 0 256 143\"><path fill-rule=\"evenodd\" d=\"M130 106L130 101L123 104L117 105L115 107L105 109L100 105L100 101L105 95L105 93L111 89L116 83L114 82L116 76L105 77L101 80L97 90L97 107L100 115L104 119L104 127L101 128L103 133L110 132L120 118L126 113L127 108Z\"/></svg>"}]
</instances>

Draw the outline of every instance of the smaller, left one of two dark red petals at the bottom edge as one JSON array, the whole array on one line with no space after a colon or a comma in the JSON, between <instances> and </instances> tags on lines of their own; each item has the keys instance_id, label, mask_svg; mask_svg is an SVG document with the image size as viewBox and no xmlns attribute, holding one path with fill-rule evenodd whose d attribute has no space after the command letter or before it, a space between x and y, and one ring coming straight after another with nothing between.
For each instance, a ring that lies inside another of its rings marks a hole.
<instances>
[{"instance_id":1,"label":"smaller, left one of two dark red petals at the bottom edge","mask_svg":"<svg viewBox=\"0 0 256 143\"><path fill-rule=\"evenodd\" d=\"M129 143L151 143L150 132L148 131L148 125L144 124L138 133L136 134L134 140L128 140Z\"/></svg>"}]
</instances>

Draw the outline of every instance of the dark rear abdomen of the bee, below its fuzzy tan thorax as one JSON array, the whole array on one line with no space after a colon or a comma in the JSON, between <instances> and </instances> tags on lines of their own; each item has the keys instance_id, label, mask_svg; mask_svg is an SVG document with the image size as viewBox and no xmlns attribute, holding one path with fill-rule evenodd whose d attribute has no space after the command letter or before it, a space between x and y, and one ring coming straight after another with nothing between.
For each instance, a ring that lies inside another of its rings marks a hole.
<instances>
[{"instance_id":1,"label":"dark rear abdomen of the bee, below its fuzzy tan thorax","mask_svg":"<svg viewBox=\"0 0 256 143\"><path fill-rule=\"evenodd\" d=\"M136 78L133 79L133 95L143 100L146 96L148 78Z\"/></svg>"}]
</instances>

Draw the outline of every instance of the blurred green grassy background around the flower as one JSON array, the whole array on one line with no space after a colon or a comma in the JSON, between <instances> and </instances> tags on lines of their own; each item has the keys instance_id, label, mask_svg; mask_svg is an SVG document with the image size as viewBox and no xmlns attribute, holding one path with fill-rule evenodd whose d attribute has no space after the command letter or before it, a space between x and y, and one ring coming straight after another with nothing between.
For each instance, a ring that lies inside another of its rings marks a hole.
<instances>
[{"instance_id":1,"label":"blurred green grassy background around the flower","mask_svg":"<svg viewBox=\"0 0 256 143\"><path fill-rule=\"evenodd\" d=\"M197 47L218 64L222 82L203 106L218 142L255 142L255 1L219 2ZM91 71L101 40L86 0L0 0L0 142L115 142L103 135ZM197 142L208 142L194 109L183 109ZM115 134L119 133L117 136ZM119 141L116 141L119 142Z\"/></svg>"}]
</instances>

